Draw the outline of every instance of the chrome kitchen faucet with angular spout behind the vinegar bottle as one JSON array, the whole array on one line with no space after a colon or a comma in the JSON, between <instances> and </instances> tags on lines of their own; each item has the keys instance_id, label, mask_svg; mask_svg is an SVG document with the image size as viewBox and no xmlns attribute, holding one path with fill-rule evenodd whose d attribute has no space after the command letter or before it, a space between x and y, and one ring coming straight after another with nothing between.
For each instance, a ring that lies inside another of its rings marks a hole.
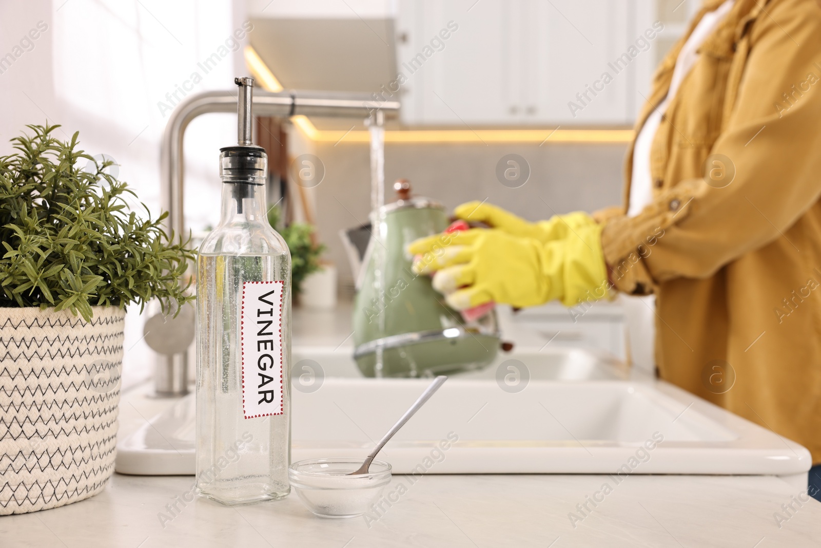
<instances>
[{"instance_id":1,"label":"chrome kitchen faucet with angular spout behind the vinegar bottle","mask_svg":"<svg viewBox=\"0 0 821 548\"><path fill-rule=\"evenodd\" d=\"M365 118L369 126L382 127L385 117L396 117L398 101L375 99L374 95L283 91L280 93L257 92L254 94L254 112L261 116L291 117L297 114L319 117ZM168 212L165 227L175 237L185 234L183 211L184 163L182 159L183 137L188 124L195 117L207 113L236 113L235 90L206 91L190 95L174 109L168 119L160 151L160 195L163 210ZM372 147L373 150L373 147ZM373 152L372 152L373 154ZM381 168L382 161L371 161ZM372 184L378 177L371 177ZM378 189L381 191L382 189ZM377 189L372 194L381 195ZM188 393L188 353L172 355L157 353L154 371L154 388L159 396L182 396Z\"/></svg>"}]
</instances>

